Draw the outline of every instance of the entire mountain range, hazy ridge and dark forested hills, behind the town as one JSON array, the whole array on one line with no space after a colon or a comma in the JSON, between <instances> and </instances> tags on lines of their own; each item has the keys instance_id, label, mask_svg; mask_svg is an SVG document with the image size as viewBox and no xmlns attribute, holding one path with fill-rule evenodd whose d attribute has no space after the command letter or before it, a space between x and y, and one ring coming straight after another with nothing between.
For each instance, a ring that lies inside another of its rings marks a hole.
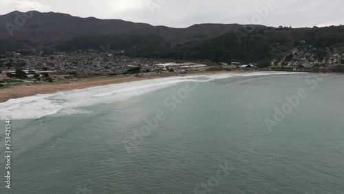
<instances>
[{"instance_id":1,"label":"entire mountain range, hazy ridge and dark forested hills, behind the town","mask_svg":"<svg viewBox=\"0 0 344 194\"><path fill-rule=\"evenodd\" d=\"M344 26L279 28L204 23L169 28L119 19L80 18L54 12L10 12L0 16L0 50L72 51L111 47L129 56L213 61L261 61L299 44L344 52Z\"/></svg>"}]
</instances>

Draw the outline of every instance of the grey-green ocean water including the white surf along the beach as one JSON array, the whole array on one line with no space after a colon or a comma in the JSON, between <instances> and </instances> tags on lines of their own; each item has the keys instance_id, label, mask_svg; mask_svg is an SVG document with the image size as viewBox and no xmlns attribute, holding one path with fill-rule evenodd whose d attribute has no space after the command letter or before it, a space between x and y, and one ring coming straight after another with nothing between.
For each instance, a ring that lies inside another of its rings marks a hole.
<instances>
[{"instance_id":1,"label":"grey-green ocean water including the white surf along the beach","mask_svg":"<svg viewBox=\"0 0 344 194\"><path fill-rule=\"evenodd\" d=\"M344 193L343 74L157 78L0 110L0 193Z\"/></svg>"}]
</instances>

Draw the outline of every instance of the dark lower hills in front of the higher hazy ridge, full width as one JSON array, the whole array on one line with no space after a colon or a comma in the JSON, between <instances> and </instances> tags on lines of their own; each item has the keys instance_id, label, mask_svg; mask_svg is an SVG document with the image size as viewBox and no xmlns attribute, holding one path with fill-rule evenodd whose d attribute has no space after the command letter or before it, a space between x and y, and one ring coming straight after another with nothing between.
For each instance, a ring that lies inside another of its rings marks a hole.
<instances>
[{"instance_id":1,"label":"dark lower hills in front of the higher hazy ridge, full width","mask_svg":"<svg viewBox=\"0 0 344 194\"><path fill-rule=\"evenodd\" d=\"M270 61L284 59L294 48L312 48L316 58L323 59L334 54L344 53L344 26L326 28L268 28L246 26L233 32L222 34L213 39L208 36L190 39L184 44L171 43L168 36L157 34L115 34L85 35L69 41L44 45L43 54L56 51L103 50L104 52L125 50L127 56L146 58L169 58L173 60L228 61ZM108 47L109 45L109 47ZM19 50L39 47L29 41L17 38L0 39L4 50ZM291 60L286 58L286 61Z\"/></svg>"}]
</instances>

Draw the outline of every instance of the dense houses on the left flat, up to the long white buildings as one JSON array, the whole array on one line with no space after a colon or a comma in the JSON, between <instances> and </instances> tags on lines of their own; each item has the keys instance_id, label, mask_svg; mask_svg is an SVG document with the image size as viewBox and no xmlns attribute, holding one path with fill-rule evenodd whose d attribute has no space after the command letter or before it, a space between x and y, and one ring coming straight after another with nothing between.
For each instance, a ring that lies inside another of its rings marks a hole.
<instances>
[{"instance_id":1,"label":"dense houses on the left flat, up to the long white buildings","mask_svg":"<svg viewBox=\"0 0 344 194\"><path fill-rule=\"evenodd\" d=\"M32 72L47 72L58 75L80 74L111 76L125 74L130 69L140 67L140 74L161 74L171 72L195 72L206 65L194 63L166 63L157 59L131 58L122 54L99 52L96 50L78 50L72 53L56 54L21 54L10 52L1 56L0 69L15 74L22 69L31 78Z\"/></svg>"}]
</instances>

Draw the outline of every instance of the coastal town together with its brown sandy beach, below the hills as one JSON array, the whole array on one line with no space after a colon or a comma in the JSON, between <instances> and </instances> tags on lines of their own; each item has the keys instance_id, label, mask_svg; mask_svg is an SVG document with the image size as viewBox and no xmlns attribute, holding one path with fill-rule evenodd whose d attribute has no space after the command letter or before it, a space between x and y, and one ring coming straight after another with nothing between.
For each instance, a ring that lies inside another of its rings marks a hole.
<instances>
[{"instance_id":1,"label":"coastal town together with its brown sandy beach, below the hills","mask_svg":"<svg viewBox=\"0 0 344 194\"><path fill-rule=\"evenodd\" d=\"M78 50L45 54L36 50L0 55L0 102L36 94L82 89L134 80L217 74L228 71L325 72L343 69L344 54L316 58L313 50L292 50L283 60L264 63L173 61L132 58L125 51Z\"/></svg>"}]
</instances>

